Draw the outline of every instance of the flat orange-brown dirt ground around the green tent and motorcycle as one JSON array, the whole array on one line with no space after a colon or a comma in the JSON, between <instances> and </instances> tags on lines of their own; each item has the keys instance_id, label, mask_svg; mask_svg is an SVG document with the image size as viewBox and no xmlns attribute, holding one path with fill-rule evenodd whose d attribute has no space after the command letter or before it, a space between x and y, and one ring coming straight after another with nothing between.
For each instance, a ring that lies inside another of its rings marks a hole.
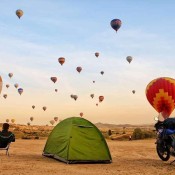
<instances>
[{"instance_id":1,"label":"flat orange-brown dirt ground around the green tent and motorcycle","mask_svg":"<svg viewBox=\"0 0 175 175\"><path fill-rule=\"evenodd\" d=\"M174 175L175 163L161 161L155 140L107 141L111 164L65 164L41 156L46 140L16 140L10 156L0 151L0 175Z\"/></svg>"}]
</instances>

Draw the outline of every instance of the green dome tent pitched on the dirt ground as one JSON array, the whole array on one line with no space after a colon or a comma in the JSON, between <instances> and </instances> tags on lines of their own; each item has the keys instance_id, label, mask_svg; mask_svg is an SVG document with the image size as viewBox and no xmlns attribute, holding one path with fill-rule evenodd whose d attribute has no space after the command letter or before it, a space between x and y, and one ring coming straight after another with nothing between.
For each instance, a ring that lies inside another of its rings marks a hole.
<instances>
[{"instance_id":1,"label":"green dome tent pitched on the dirt ground","mask_svg":"<svg viewBox=\"0 0 175 175\"><path fill-rule=\"evenodd\" d=\"M66 163L111 163L108 145L99 129L88 120L71 117L55 126L44 156Z\"/></svg>"}]
</instances>

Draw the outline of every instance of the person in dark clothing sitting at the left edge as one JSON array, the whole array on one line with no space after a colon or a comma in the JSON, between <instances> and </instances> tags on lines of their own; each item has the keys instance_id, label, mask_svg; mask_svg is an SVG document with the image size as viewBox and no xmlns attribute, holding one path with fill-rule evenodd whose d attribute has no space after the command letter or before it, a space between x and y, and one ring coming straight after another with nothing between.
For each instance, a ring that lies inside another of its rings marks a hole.
<instances>
[{"instance_id":1,"label":"person in dark clothing sitting at the left edge","mask_svg":"<svg viewBox=\"0 0 175 175\"><path fill-rule=\"evenodd\" d=\"M0 131L0 148L5 148L11 142L15 142L15 135L8 131L9 124L4 123L2 126L2 131Z\"/></svg>"}]
</instances>

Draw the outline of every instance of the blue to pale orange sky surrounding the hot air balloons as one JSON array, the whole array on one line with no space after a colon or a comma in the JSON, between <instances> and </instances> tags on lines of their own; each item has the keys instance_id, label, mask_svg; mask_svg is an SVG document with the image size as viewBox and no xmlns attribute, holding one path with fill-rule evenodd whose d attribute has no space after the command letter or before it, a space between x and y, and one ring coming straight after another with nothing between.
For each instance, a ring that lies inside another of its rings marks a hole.
<instances>
[{"instance_id":1,"label":"blue to pale orange sky surrounding the hot air balloons","mask_svg":"<svg viewBox=\"0 0 175 175\"><path fill-rule=\"evenodd\" d=\"M1 1L0 122L26 124L34 117L33 124L45 125L83 112L93 123L154 123L158 113L145 89L155 78L175 76L174 7L173 0ZM17 9L24 12L21 19ZM122 21L117 33L110 26L116 18ZM133 57L130 64L127 56ZM63 66L59 57L66 59ZM24 89L21 96L15 83Z\"/></svg>"}]
</instances>

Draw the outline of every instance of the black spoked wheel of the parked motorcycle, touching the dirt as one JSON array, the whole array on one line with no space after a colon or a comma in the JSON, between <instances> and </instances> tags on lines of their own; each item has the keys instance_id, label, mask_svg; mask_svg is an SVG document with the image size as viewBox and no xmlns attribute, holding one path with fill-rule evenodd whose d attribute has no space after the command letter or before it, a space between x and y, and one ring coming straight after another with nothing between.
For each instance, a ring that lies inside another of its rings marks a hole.
<instances>
[{"instance_id":1,"label":"black spoked wheel of the parked motorcycle, touching the dirt","mask_svg":"<svg viewBox=\"0 0 175 175\"><path fill-rule=\"evenodd\" d=\"M168 161L170 158L170 149L166 145L157 144L157 154L163 161Z\"/></svg>"}]
</instances>

